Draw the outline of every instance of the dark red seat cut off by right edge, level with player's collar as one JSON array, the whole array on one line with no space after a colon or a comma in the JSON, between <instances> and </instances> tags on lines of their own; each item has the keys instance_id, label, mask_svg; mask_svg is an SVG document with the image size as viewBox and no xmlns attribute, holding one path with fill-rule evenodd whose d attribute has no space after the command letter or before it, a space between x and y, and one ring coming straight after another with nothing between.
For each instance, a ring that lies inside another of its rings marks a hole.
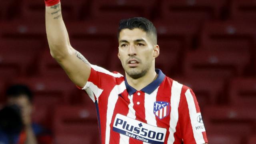
<instances>
[{"instance_id":1,"label":"dark red seat cut off by right edge, level with player's collar","mask_svg":"<svg viewBox=\"0 0 256 144\"><path fill-rule=\"evenodd\" d=\"M236 106L255 106L256 78L235 78L230 82L230 101Z\"/></svg>"}]
</instances>

